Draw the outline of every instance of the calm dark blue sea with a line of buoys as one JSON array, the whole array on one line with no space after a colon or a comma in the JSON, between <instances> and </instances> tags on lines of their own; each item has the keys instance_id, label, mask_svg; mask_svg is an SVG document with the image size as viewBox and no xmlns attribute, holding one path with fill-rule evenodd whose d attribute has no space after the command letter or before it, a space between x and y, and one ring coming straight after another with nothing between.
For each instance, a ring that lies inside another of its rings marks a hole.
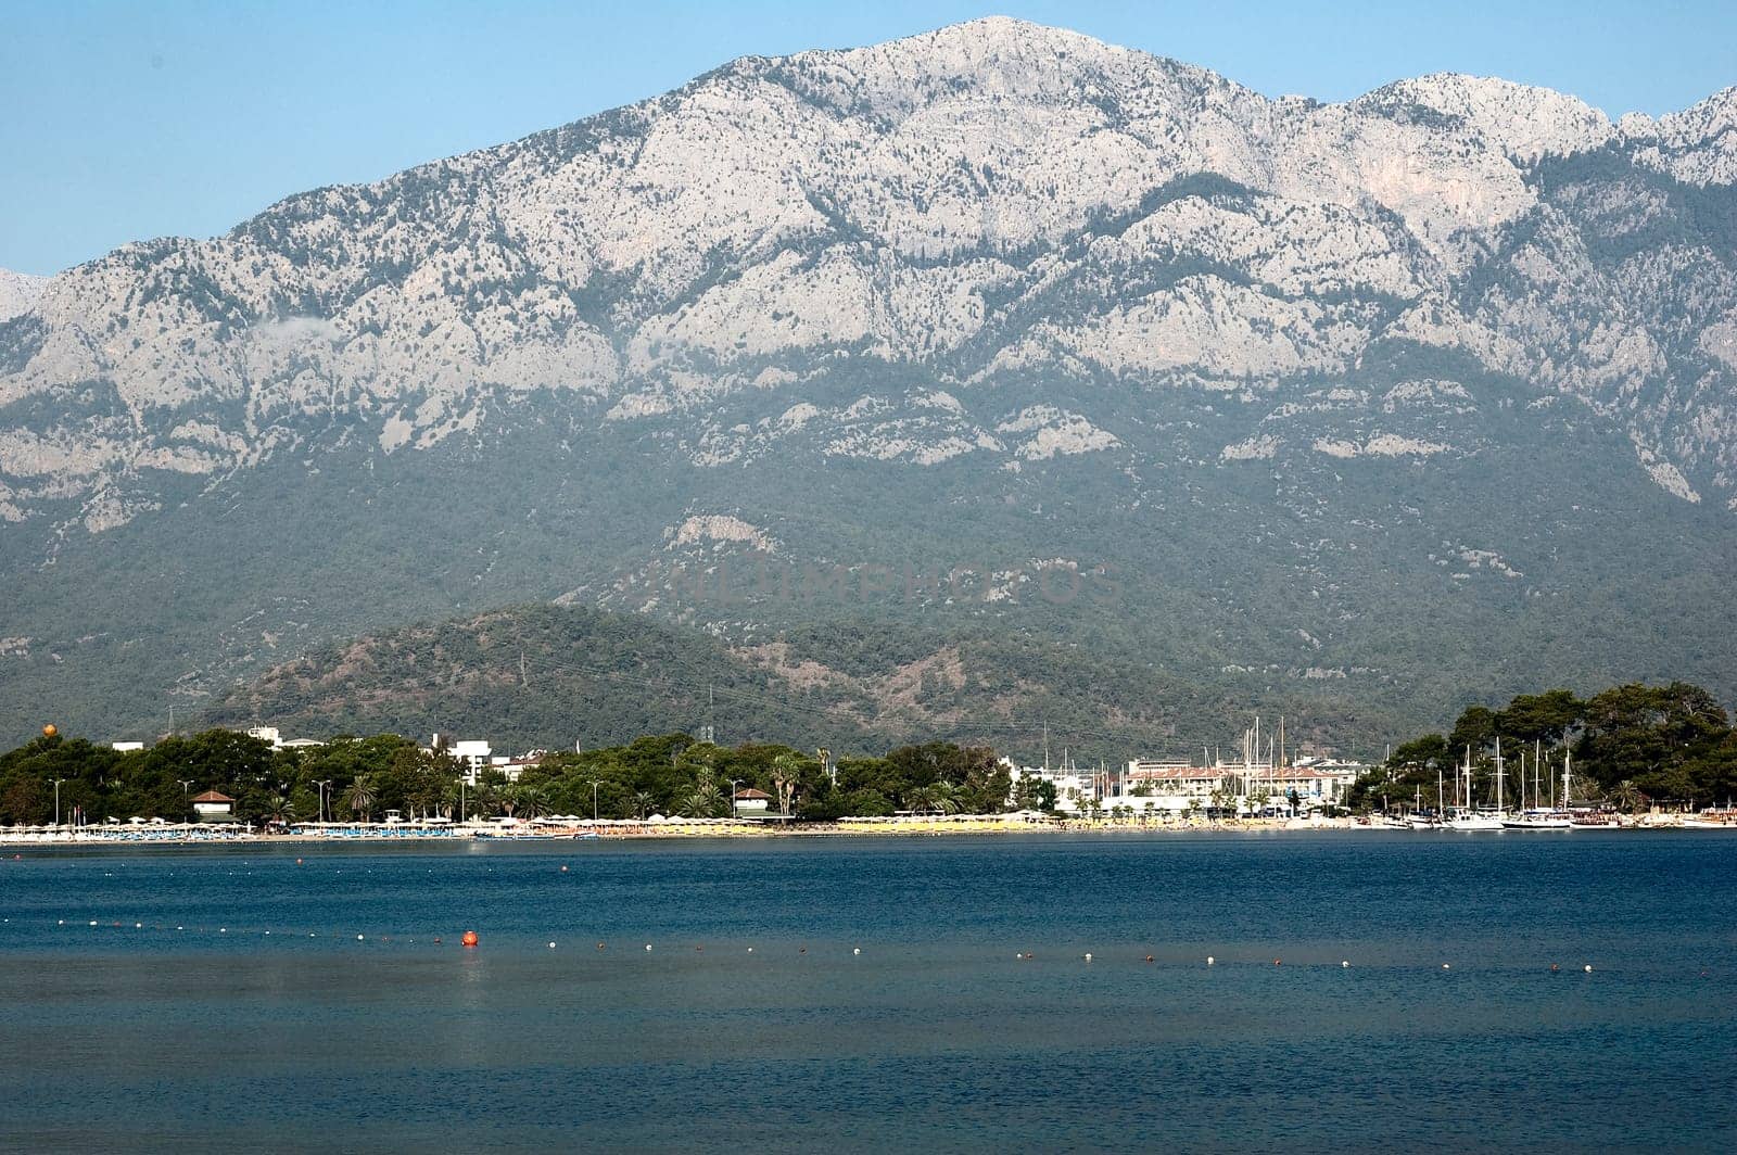
<instances>
[{"instance_id":1,"label":"calm dark blue sea with a line of buoys","mask_svg":"<svg viewBox=\"0 0 1737 1155\"><path fill-rule=\"evenodd\" d=\"M1737 1150L1720 832L19 853L3 1150Z\"/></svg>"}]
</instances>

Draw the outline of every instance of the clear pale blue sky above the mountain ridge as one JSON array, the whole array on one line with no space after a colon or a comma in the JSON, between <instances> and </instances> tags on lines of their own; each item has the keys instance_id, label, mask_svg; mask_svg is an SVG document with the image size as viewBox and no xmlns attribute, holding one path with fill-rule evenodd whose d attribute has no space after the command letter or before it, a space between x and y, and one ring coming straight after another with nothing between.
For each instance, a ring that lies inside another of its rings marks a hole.
<instances>
[{"instance_id":1,"label":"clear pale blue sky above the mountain ridge","mask_svg":"<svg viewBox=\"0 0 1737 1155\"><path fill-rule=\"evenodd\" d=\"M672 89L743 54L1002 12L1341 101L1400 76L1539 83L1664 113L1737 83L1737 3L94 3L0 0L0 267L210 236Z\"/></svg>"}]
</instances>

